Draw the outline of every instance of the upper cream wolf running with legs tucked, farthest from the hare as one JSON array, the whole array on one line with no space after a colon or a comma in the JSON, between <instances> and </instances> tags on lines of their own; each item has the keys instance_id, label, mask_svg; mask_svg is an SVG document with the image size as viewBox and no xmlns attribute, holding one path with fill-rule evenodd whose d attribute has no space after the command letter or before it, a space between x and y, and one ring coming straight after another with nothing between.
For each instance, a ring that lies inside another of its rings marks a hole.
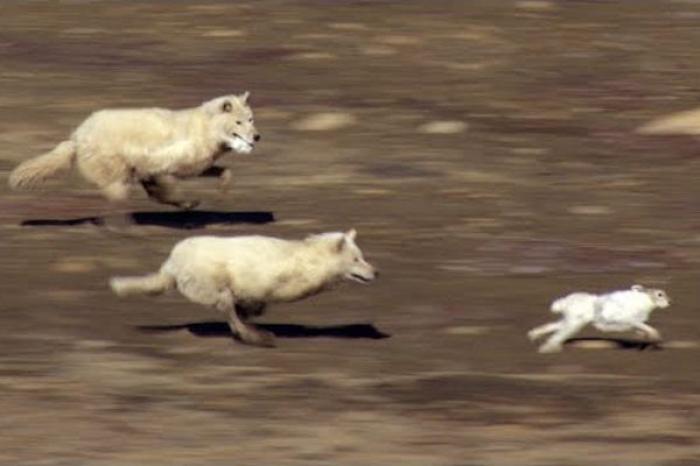
<instances>
[{"instance_id":1,"label":"upper cream wolf running with legs tucked, farthest from the hare","mask_svg":"<svg viewBox=\"0 0 700 466\"><path fill-rule=\"evenodd\" d=\"M202 174L227 150L247 154L260 140L248 97L217 97L184 110L100 110L52 151L21 163L9 184L29 188L75 164L110 200L126 199L137 181L158 202L193 208L198 202L179 197L176 179ZM231 173L219 172L225 187Z\"/></svg>"}]
</instances>

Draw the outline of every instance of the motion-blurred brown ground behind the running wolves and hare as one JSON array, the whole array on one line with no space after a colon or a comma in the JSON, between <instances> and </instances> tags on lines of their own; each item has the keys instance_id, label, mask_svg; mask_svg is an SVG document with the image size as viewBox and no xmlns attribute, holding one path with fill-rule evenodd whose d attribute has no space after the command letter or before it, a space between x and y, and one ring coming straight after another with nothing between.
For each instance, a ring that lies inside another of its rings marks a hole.
<instances>
[{"instance_id":1,"label":"motion-blurred brown ground behind the running wolves and hare","mask_svg":"<svg viewBox=\"0 0 700 466\"><path fill-rule=\"evenodd\" d=\"M229 195L187 183L211 211L189 225L76 178L2 183L1 464L700 464L700 145L634 133L698 106L700 3L1 9L3 175L106 106L247 89L263 134ZM273 308L272 350L106 287L194 232L351 226L381 280ZM674 299L662 351L526 340L554 297L633 282Z\"/></svg>"}]
</instances>

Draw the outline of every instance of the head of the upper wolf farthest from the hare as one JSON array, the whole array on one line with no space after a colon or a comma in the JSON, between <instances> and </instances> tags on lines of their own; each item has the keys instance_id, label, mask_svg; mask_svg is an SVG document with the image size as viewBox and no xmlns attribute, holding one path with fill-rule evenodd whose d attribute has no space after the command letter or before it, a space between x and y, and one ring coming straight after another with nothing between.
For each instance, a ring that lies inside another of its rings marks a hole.
<instances>
[{"instance_id":1,"label":"head of the upper wolf farthest from the hare","mask_svg":"<svg viewBox=\"0 0 700 466\"><path fill-rule=\"evenodd\" d=\"M222 144L227 150L239 154L249 154L260 140L260 133L253 122L253 111L248 105L249 97L250 93L244 92L217 97L203 104Z\"/></svg>"}]
</instances>

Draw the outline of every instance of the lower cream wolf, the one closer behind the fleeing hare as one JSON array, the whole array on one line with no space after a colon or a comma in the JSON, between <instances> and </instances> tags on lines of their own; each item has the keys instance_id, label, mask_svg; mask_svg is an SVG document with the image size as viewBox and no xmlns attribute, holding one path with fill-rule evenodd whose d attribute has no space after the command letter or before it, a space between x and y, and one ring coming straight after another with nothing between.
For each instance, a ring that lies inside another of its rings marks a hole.
<instances>
[{"instance_id":1,"label":"lower cream wolf, the one closer behind the fleeing hare","mask_svg":"<svg viewBox=\"0 0 700 466\"><path fill-rule=\"evenodd\" d=\"M355 230L304 240L194 236L176 244L158 272L114 277L110 285L120 296L160 294L176 287L190 301L226 313L231 330L243 342L274 346L272 334L246 323L268 303L296 301L343 279L367 283L377 276L355 236Z\"/></svg>"}]
</instances>

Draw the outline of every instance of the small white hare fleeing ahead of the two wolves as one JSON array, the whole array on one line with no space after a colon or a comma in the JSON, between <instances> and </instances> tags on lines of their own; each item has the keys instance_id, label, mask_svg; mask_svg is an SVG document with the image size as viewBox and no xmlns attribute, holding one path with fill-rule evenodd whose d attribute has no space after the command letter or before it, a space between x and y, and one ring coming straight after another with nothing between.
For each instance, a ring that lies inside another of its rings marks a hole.
<instances>
[{"instance_id":1,"label":"small white hare fleeing ahead of the two wolves","mask_svg":"<svg viewBox=\"0 0 700 466\"><path fill-rule=\"evenodd\" d=\"M528 337L536 340L553 332L539 348L540 353L553 353L561 351L567 338L592 323L603 332L636 330L652 341L660 341L659 332L646 321L651 311L666 308L670 303L663 290L642 285L601 295L572 293L552 303L551 311L561 314L562 319L535 327L528 332Z\"/></svg>"}]
</instances>

